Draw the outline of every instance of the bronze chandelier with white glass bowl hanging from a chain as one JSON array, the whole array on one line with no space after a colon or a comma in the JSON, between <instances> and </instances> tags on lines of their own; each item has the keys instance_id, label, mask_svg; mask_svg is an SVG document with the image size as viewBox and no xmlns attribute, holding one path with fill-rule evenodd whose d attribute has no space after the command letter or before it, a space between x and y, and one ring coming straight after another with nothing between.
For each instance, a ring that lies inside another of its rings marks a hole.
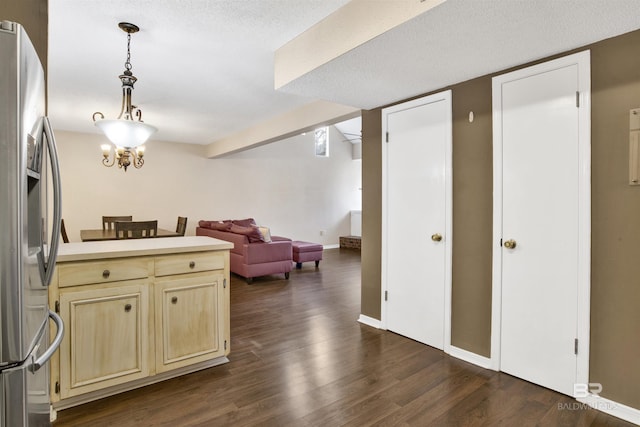
<instances>
[{"instance_id":1,"label":"bronze chandelier with white glass bowl hanging from a chain","mask_svg":"<svg viewBox=\"0 0 640 427\"><path fill-rule=\"evenodd\" d=\"M131 92L133 84L138 80L131 72L131 34L140 31L140 28L128 22L121 22L118 27L127 33L127 60L124 63L124 72L120 75L122 82L122 106L120 115L115 120L107 120L99 111L93 113L94 124L113 143L102 145L102 164L111 167L117 164L125 172L130 165L140 169L144 164L144 144L158 129L142 121L142 110L131 104ZM98 119L96 119L99 117ZM113 157L112 157L113 153Z\"/></svg>"}]
</instances>

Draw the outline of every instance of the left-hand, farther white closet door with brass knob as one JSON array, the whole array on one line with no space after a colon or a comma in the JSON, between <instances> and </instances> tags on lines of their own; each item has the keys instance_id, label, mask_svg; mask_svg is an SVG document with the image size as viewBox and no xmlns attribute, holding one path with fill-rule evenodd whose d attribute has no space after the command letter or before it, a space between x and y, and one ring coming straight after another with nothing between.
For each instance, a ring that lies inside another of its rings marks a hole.
<instances>
[{"instance_id":1,"label":"left-hand, farther white closet door with brass knob","mask_svg":"<svg viewBox=\"0 0 640 427\"><path fill-rule=\"evenodd\" d=\"M386 109L383 120L386 326L443 349L450 342L450 92Z\"/></svg>"}]
</instances>

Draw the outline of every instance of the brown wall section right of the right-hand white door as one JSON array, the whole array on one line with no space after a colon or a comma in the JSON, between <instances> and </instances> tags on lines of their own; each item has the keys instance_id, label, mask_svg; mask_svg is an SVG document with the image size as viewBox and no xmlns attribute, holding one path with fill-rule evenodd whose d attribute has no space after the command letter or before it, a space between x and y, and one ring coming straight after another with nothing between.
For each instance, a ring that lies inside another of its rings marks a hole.
<instances>
[{"instance_id":1,"label":"brown wall section right of the right-hand white door","mask_svg":"<svg viewBox=\"0 0 640 427\"><path fill-rule=\"evenodd\" d=\"M591 47L591 382L640 409L640 187L628 185L640 31Z\"/></svg>"}]
</instances>

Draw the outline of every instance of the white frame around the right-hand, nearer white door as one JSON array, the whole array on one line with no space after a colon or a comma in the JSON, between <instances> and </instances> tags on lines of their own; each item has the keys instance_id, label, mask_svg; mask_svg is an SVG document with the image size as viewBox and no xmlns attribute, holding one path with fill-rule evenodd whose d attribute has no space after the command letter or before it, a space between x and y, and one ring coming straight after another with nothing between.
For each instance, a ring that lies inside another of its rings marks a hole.
<instances>
[{"instance_id":1,"label":"white frame around the right-hand, nearer white door","mask_svg":"<svg viewBox=\"0 0 640 427\"><path fill-rule=\"evenodd\" d=\"M590 51L586 50L559 59L533 65L492 79L493 98L493 266L491 308L491 369L500 370L502 314L502 84L578 66L578 309L576 382L589 382L589 330L591 300L591 67Z\"/></svg>"}]
</instances>

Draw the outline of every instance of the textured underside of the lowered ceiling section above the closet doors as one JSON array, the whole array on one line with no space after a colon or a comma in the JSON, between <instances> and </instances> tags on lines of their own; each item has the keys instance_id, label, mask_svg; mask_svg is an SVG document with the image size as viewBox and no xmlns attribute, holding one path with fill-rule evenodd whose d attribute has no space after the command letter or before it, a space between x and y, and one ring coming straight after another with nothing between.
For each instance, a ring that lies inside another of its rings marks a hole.
<instances>
[{"instance_id":1,"label":"textured underside of the lowered ceiling section above the closet doors","mask_svg":"<svg viewBox=\"0 0 640 427\"><path fill-rule=\"evenodd\" d=\"M447 0L279 90L372 109L638 28L637 0Z\"/></svg>"}]
</instances>

